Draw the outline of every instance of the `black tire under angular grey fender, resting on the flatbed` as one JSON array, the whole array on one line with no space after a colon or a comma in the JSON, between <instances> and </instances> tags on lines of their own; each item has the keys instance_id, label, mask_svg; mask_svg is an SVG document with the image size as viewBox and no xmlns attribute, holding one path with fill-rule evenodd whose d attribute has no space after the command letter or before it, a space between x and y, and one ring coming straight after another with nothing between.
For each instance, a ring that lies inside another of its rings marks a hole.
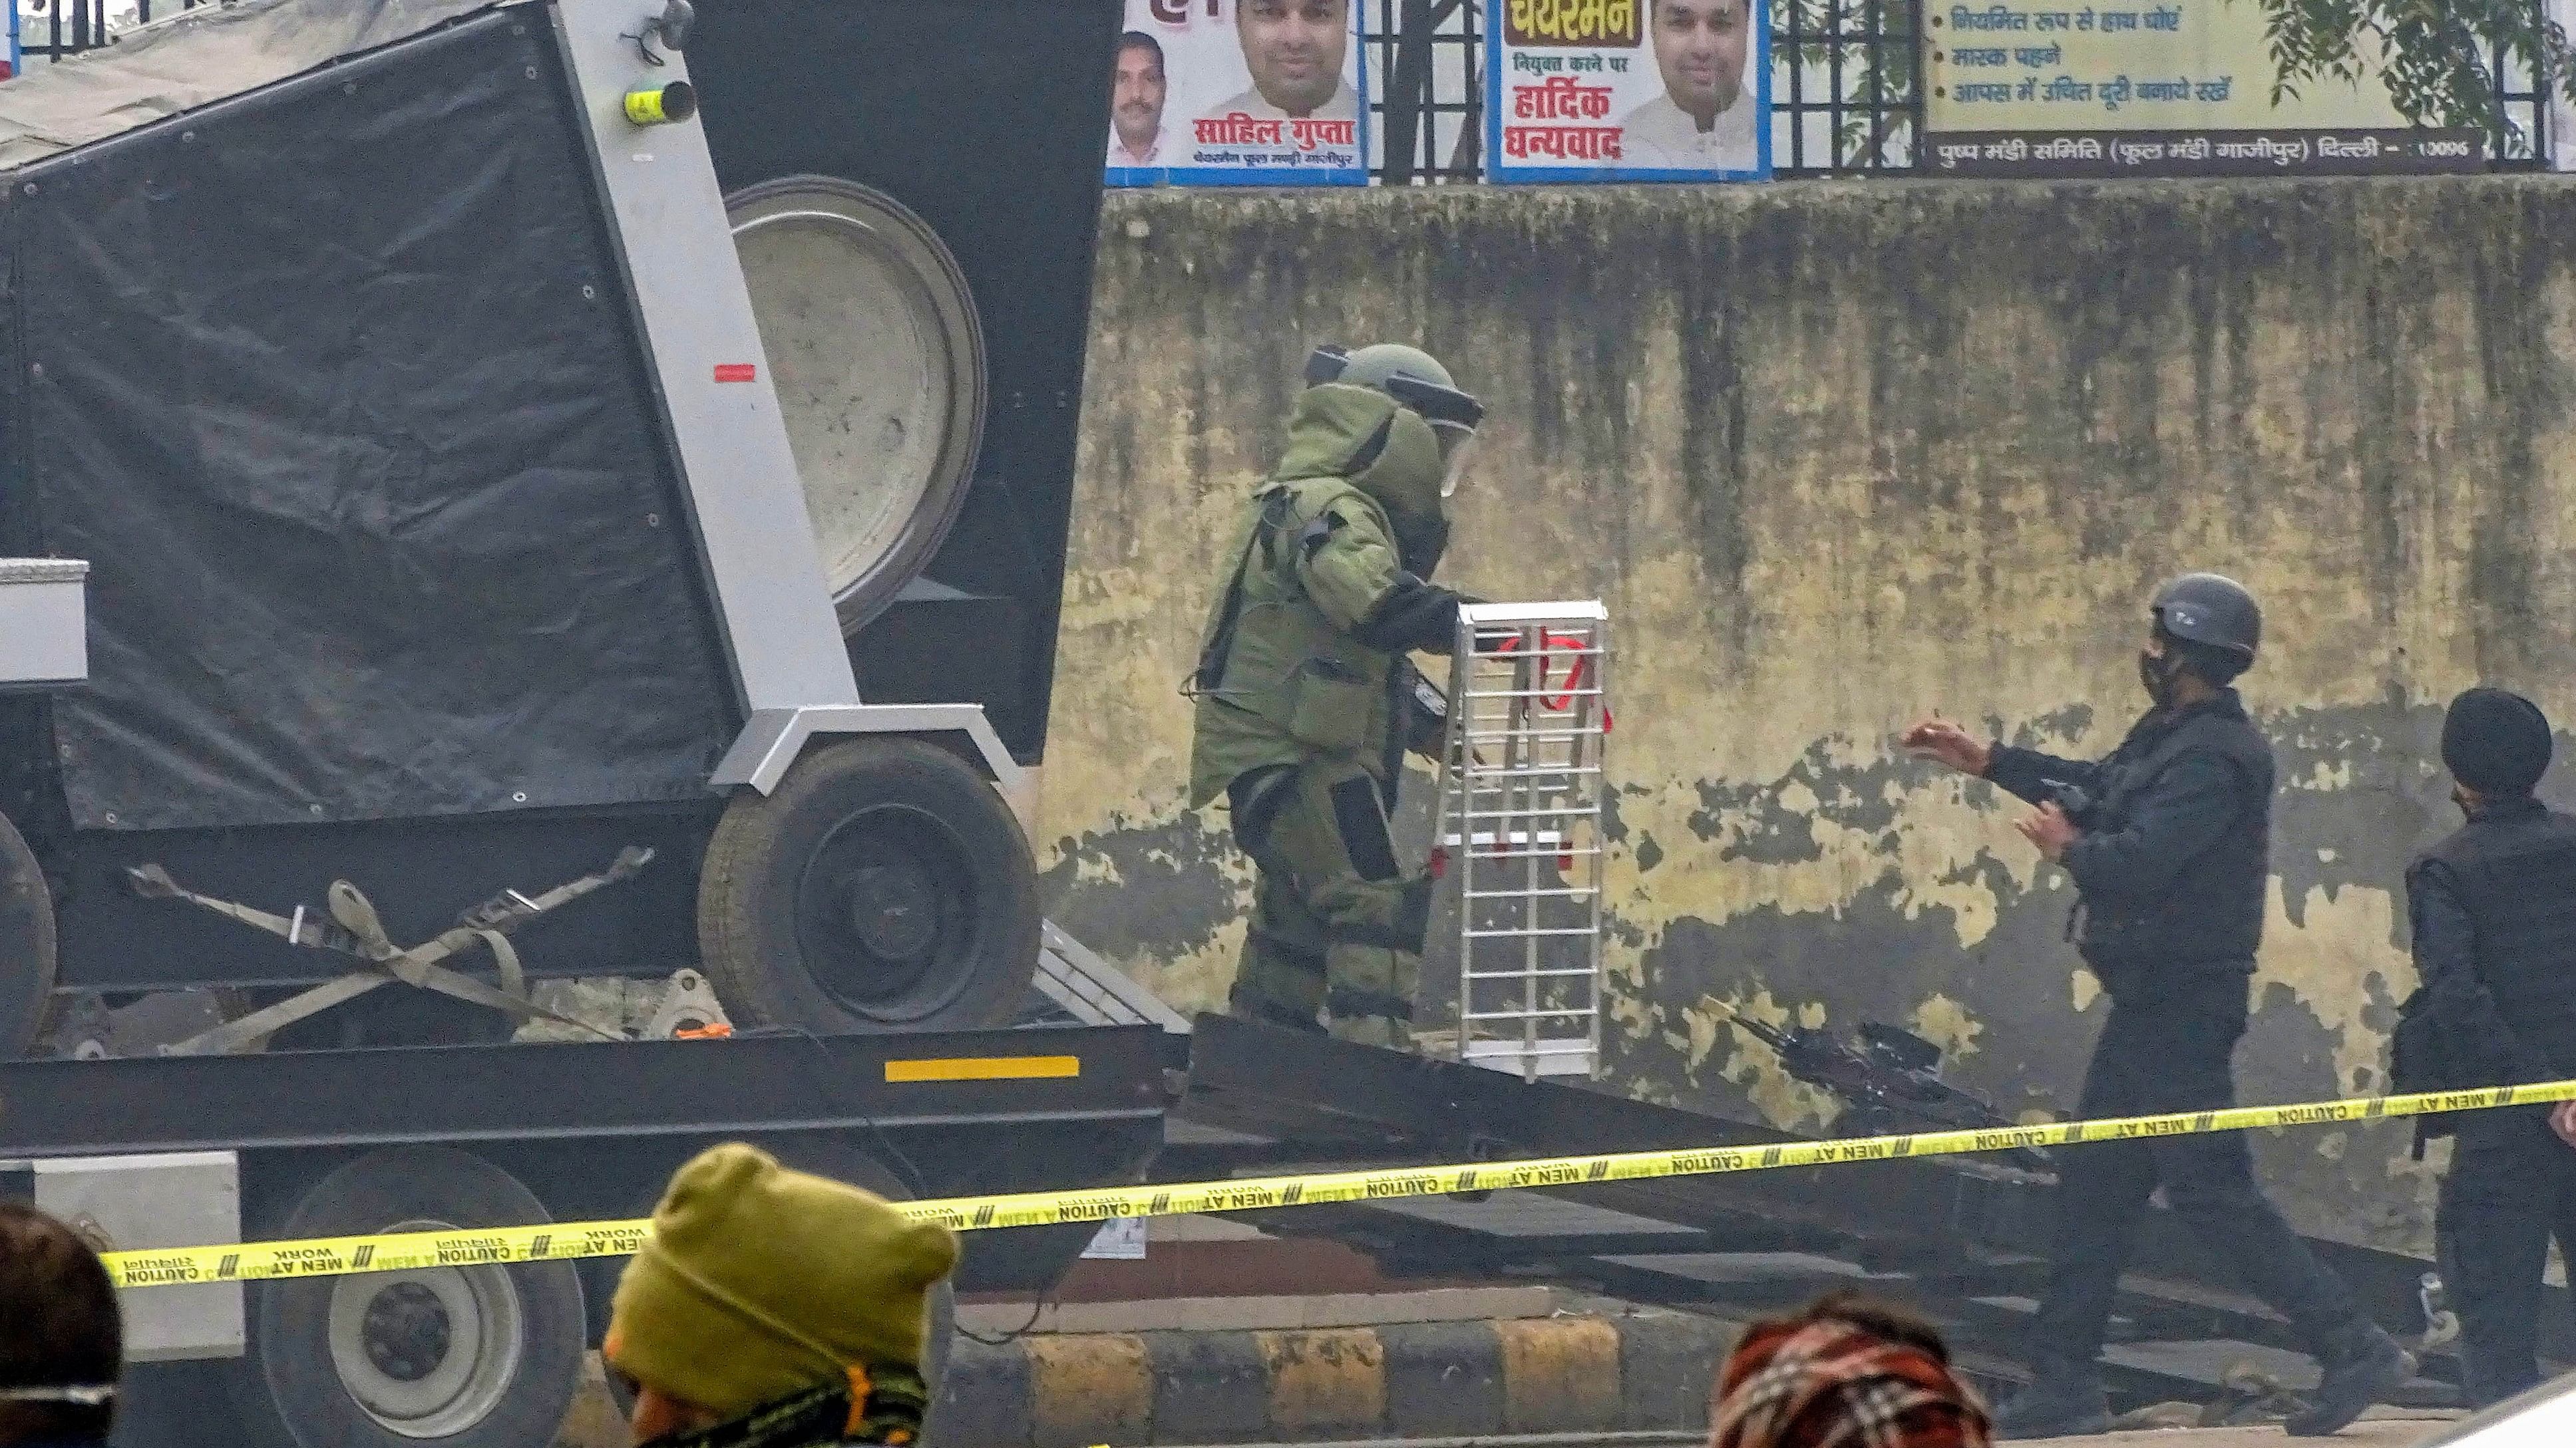
<instances>
[{"instance_id":1,"label":"black tire under angular grey fender, resting on the flatbed","mask_svg":"<svg viewBox=\"0 0 2576 1448\"><path fill-rule=\"evenodd\" d=\"M902 737L824 745L724 806L698 951L734 1025L963 1031L1038 974L1038 868L966 760Z\"/></svg>"}]
</instances>

